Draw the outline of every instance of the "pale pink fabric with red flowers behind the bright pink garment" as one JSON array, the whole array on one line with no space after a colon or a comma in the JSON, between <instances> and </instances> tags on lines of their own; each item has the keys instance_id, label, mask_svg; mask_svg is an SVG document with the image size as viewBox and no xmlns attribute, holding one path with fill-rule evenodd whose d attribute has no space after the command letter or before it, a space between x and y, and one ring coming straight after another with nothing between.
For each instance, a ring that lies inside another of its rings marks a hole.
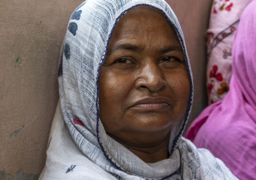
<instances>
[{"instance_id":1,"label":"pale pink fabric with red flowers behind the bright pink garment","mask_svg":"<svg viewBox=\"0 0 256 180\"><path fill-rule=\"evenodd\" d=\"M209 104L223 99L232 75L232 43L243 9L252 0L214 0L207 30Z\"/></svg>"}]
</instances>

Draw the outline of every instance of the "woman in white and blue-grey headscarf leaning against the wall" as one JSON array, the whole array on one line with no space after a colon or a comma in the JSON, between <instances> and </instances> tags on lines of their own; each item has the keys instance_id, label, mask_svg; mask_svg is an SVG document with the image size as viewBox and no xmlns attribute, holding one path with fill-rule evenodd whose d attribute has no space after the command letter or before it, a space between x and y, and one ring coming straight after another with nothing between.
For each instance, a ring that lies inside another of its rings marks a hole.
<instances>
[{"instance_id":1,"label":"woman in white and blue-grey headscarf leaning against the wall","mask_svg":"<svg viewBox=\"0 0 256 180\"><path fill-rule=\"evenodd\" d=\"M181 138L193 82L166 2L86 1L71 17L58 74L40 179L236 179Z\"/></svg>"}]
</instances>

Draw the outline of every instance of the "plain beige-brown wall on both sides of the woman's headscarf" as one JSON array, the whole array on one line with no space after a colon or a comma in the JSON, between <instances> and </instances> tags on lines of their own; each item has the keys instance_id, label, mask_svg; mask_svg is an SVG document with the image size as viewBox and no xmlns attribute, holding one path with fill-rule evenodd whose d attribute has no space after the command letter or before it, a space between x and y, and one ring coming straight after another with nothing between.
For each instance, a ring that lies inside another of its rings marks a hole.
<instances>
[{"instance_id":1,"label":"plain beige-brown wall on both sides of the woman's headscarf","mask_svg":"<svg viewBox=\"0 0 256 180\"><path fill-rule=\"evenodd\" d=\"M0 1L0 179L37 179L58 100L68 20L83 0ZM181 23L195 79L191 117L206 105L205 31L212 0L167 0Z\"/></svg>"}]
</instances>

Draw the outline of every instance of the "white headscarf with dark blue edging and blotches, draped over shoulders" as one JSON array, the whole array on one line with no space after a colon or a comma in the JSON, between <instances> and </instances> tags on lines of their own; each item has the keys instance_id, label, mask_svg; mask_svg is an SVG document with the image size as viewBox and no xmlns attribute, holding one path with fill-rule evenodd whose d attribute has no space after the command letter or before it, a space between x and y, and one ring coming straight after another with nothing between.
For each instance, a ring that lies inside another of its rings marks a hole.
<instances>
[{"instance_id":1,"label":"white headscarf with dark blue edging and blotches, draped over shoulders","mask_svg":"<svg viewBox=\"0 0 256 180\"><path fill-rule=\"evenodd\" d=\"M156 163L144 162L113 140L99 119L98 78L109 38L117 21L127 11L142 5L161 11L174 27L190 80L187 110L171 131L170 156ZM193 144L181 138L193 101L193 80L183 33L165 1L84 2L69 22L60 55L58 81L62 113L57 107L41 179L234 179L222 161L207 150L199 153Z\"/></svg>"}]
</instances>

